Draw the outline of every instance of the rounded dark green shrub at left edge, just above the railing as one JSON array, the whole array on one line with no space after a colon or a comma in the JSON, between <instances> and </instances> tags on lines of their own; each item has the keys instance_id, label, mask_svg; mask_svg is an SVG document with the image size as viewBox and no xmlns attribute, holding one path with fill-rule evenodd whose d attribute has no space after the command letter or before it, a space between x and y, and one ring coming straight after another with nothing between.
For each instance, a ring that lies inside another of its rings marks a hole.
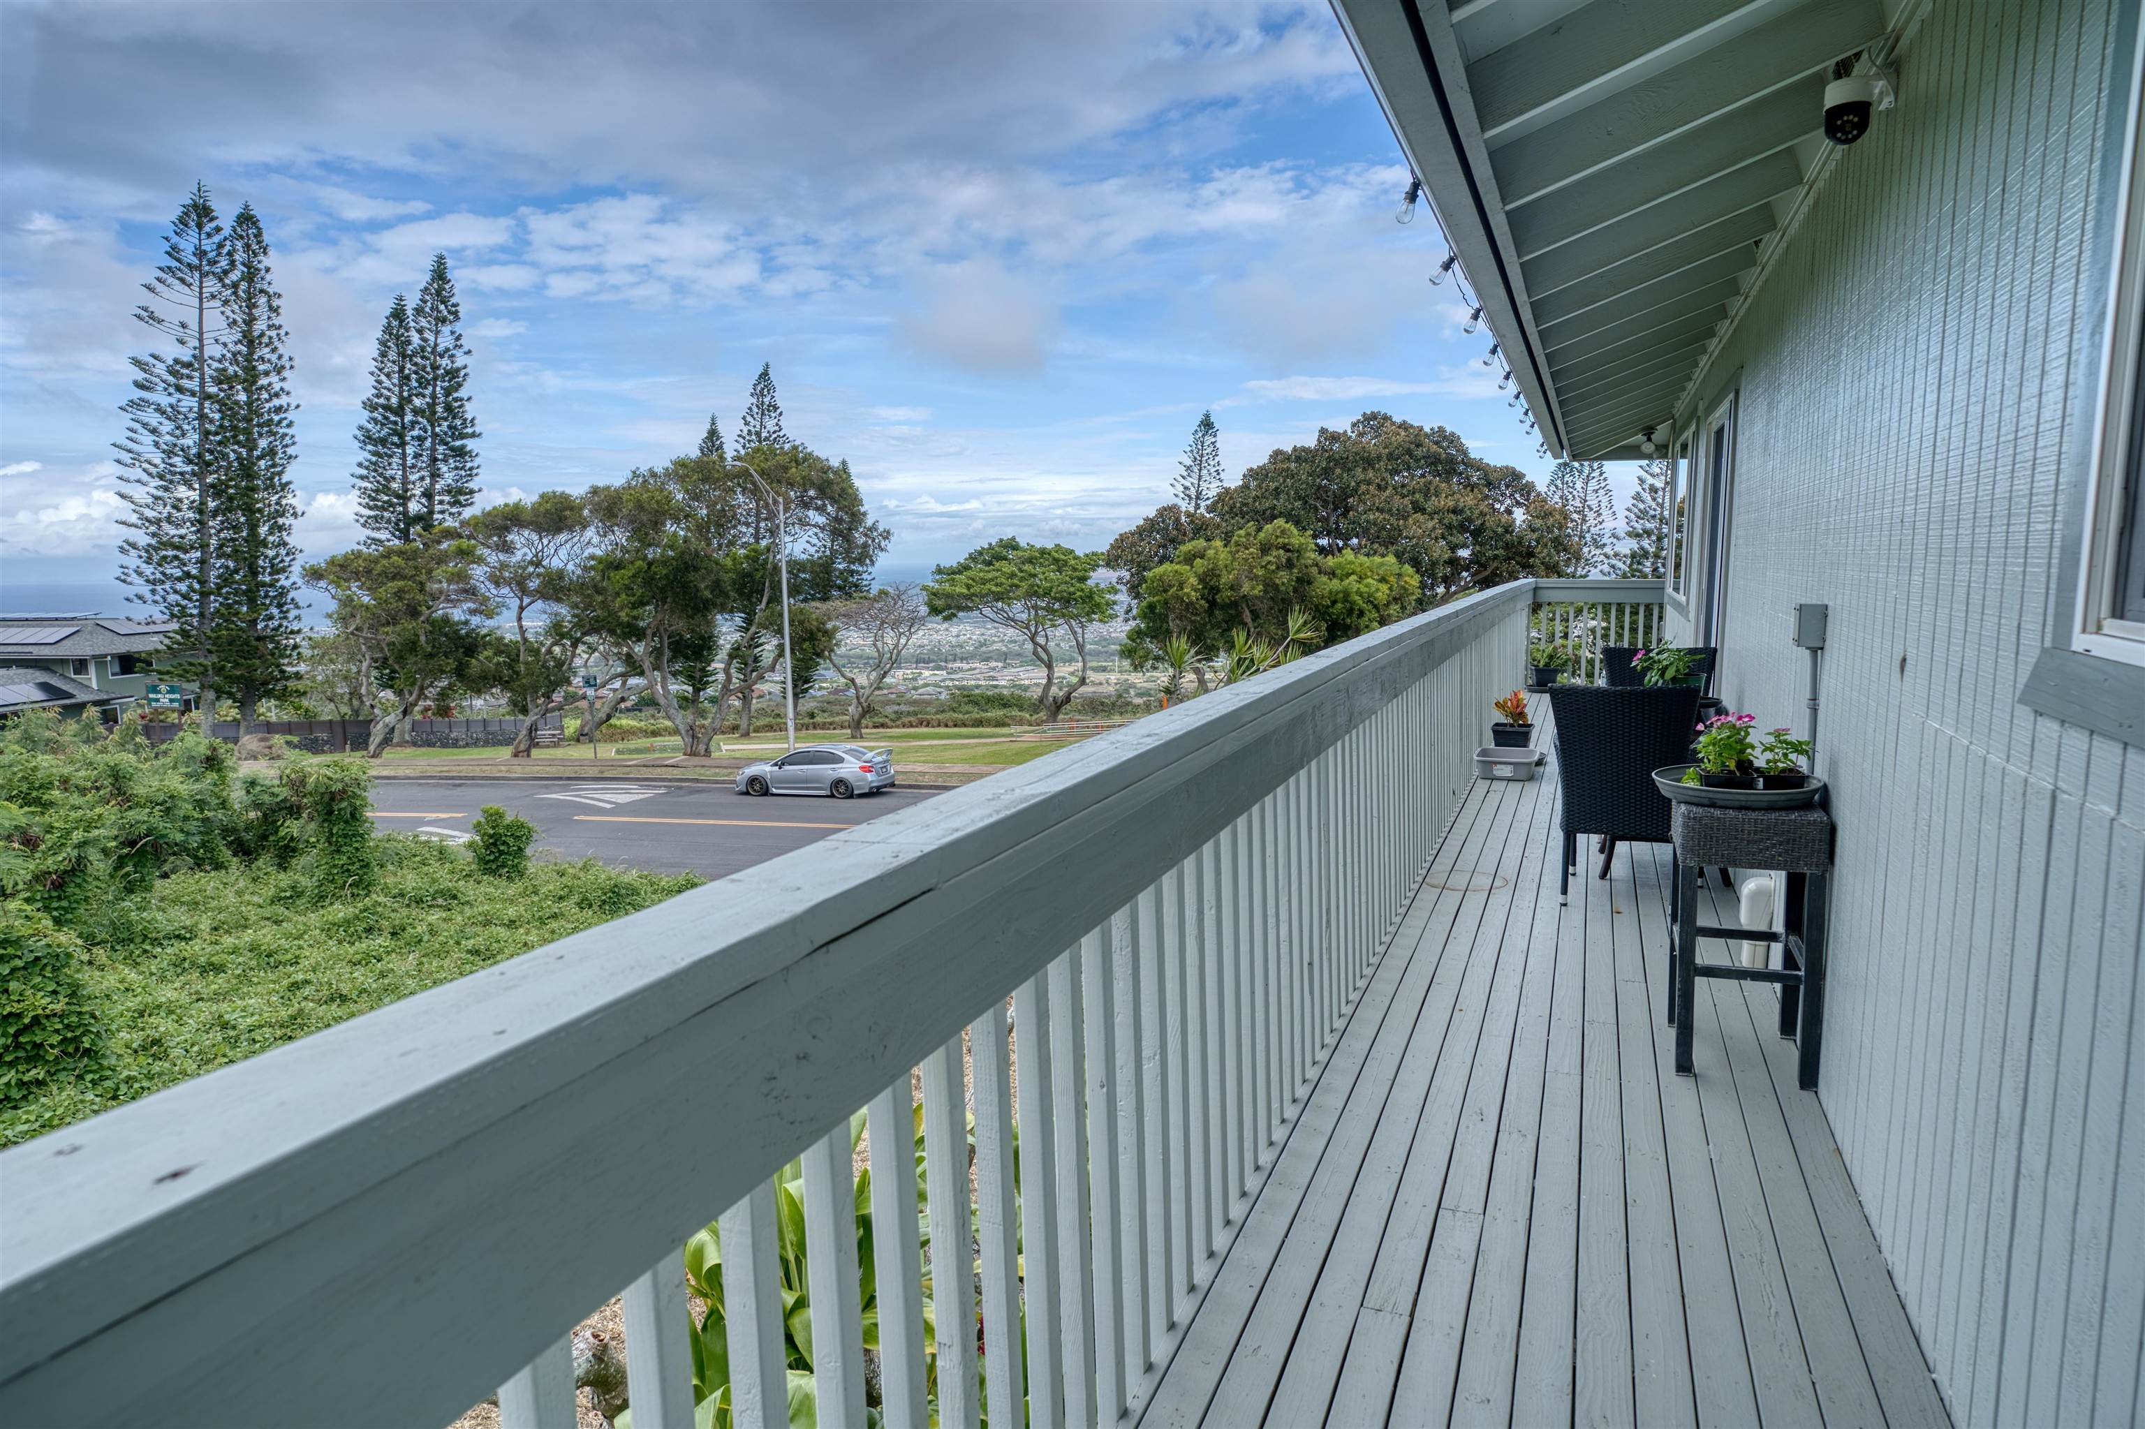
<instances>
[{"instance_id":1,"label":"rounded dark green shrub at left edge, just above the railing","mask_svg":"<svg viewBox=\"0 0 2145 1429\"><path fill-rule=\"evenodd\" d=\"M21 903L0 903L0 1107L101 1062L103 1028L82 987L82 940Z\"/></svg>"}]
</instances>

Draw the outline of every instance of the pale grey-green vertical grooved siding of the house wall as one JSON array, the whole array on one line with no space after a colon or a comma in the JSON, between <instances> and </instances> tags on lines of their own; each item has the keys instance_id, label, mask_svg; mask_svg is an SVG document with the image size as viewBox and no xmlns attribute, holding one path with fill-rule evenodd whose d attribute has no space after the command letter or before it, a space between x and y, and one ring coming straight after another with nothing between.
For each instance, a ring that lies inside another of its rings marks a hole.
<instances>
[{"instance_id":1,"label":"pale grey-green vertical grooved siding of the house wall","mask_svg":"<svg viewBox=\"0 0 2145 1429\"><path fill-rule=\"evenodd\" d=\"M1789 609L1832 607L1819 1099L1973 1425L2145 1412L2145 749L2016 702L2072 599L2117 28L1935 4L1684 410L1737 391L1731 706L1800 725Z\"/></svg>"}]
</instances>

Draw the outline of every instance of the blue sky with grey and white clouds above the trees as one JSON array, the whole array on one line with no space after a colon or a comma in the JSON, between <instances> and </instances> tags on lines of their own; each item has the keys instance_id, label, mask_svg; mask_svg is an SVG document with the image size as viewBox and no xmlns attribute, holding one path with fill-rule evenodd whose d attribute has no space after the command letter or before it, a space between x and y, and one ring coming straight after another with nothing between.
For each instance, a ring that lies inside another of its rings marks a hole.
<instances>
[{"instance_id":1,"label":"blue sky with grey and white clouds above the trees","mask_svg":"<svg viewBox=\"0 0 2145 1429\"><path fill-rule=\"evenodd\" d=\"M764 360L905 571L1100 547L1205 408L1231 478L1366 408L1547 470L1326 6L9 4L0 90L11 586L116 569L129 313L195 178L275 247L309 554L433 249L487 500L729 431Z\"/></svg>"}]
</instances>

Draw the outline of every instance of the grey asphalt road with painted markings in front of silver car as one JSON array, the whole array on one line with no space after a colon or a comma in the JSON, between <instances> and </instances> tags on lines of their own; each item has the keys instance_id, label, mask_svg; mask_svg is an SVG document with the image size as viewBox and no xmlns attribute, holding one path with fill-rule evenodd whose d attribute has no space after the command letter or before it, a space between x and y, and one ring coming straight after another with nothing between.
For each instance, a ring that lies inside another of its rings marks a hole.
<instances>
[{"instance_id":1,"label":"grey asphalt road with painted markings in front of silver car","mask_svg":"<svg viewBox=\"0 0 2145 1429\"><path fill-rule=\"evenodd\" d=\"M476 811L500 805L536 824L538 850L656 873L723 878L837 828L907 809L924 790L869 798L751 798L723 783L601 779L375 779L373 826L461 843Z\"/></svg>"}]
</instances>

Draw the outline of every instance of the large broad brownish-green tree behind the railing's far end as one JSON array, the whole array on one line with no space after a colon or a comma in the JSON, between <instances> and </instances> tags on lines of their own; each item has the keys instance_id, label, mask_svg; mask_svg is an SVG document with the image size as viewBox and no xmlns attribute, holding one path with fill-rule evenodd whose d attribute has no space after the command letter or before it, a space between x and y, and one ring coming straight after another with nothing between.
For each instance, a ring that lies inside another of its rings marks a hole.
<instances>
[{"instance_id":1,"label":"large broad brownish-green tree behind the railing's far end","mask_svg":"<svg viewBox=\"0 0 2145 1429\"><path fill-rule=\"evenodd\" d=\"M1491 466L1444 427L1364 412L1347 431L1274 451L1214 498L1225 532L1287 521L1326 556L1392 556L1422 579L1422 599L1559 575L1570 534L1512 466Z\"/></svg>"}]
</instances>

